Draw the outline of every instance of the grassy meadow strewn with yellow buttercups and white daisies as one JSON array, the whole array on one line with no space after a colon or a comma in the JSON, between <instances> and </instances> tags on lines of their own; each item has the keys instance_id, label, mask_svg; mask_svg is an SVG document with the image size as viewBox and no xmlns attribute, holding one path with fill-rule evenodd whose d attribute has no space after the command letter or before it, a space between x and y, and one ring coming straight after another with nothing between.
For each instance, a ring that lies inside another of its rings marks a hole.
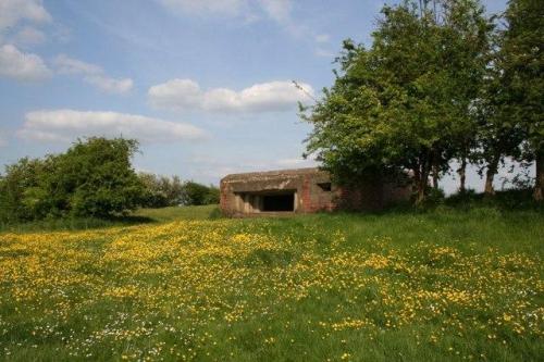
<instances>
[{"instance_id":1,"label":"grassy meadow strewn with yellow buttercups and white daisies","mask_svg":"<svg viewBox=\"0 0 544 362\"><path fill-rule=\"evenodd\" d=\"M544 355L542 211L137 216L0 234L1 360Z\"/></svg>"}]
</instances>

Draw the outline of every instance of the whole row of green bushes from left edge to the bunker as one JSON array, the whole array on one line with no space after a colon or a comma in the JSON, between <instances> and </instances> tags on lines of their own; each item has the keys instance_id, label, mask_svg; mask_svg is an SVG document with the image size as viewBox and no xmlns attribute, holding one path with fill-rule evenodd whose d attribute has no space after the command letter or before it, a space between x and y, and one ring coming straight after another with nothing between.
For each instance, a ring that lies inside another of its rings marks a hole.
<instances>
[{"instance_id":1,"label":"whole row of green bushes from left edge to the bunker","mask_svg":"<svg viewBox=\"0 0 544 362\"><path fill-rule=\"evenodd\" d=\"M138 207L219 203L214 186L183 183L177 176L137 175L131 165L137 150L135 140L94 137L78 140L64 153L21 159L0 175L0 223L47 220L52 228L89 225L92 217L131 223L120 216Z\"/></svg>"}]
</instances>

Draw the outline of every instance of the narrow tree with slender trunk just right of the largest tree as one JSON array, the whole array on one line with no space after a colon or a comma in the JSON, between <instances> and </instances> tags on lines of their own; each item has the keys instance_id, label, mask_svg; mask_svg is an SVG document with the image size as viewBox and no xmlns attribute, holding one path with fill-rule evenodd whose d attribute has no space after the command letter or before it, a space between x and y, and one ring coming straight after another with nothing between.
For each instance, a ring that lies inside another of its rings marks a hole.
<instances>
[{"instance_id":1,"label":"narrow tree with slender trunk just right of the largest tree","mask_svg":"<svg viewBox=\"0 0 544 362\"><path fill-rule=\"evenodd\" d=\"M444 64L449 70L449 95L458 117L447 149L447 159L459 161L459 191L466 191L466 168L477 159L478 128L482 115L480 98L489 76L492 54L494 17L485 16L480 1L440 1Z\"/></svg>"}]
</instances>

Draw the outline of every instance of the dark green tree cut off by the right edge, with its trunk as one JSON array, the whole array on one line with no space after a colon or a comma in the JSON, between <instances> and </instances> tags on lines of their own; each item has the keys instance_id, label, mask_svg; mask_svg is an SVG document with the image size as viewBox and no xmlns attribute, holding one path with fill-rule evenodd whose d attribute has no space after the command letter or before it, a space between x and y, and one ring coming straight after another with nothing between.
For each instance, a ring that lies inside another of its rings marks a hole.
<instances>
[{"instance_id":1,"label":"dark green tree cut off by the right edge, with its trunk","mask_svg":"<svg viewBox=\"0 0 544 362\"><path fill-rule=\"evenodd\" d=\"M535 161L534 199L544 198L544 95L541 0L510 0L502 43L502 107L523 132L527 158Z\"/></svg>"}]
</instances>

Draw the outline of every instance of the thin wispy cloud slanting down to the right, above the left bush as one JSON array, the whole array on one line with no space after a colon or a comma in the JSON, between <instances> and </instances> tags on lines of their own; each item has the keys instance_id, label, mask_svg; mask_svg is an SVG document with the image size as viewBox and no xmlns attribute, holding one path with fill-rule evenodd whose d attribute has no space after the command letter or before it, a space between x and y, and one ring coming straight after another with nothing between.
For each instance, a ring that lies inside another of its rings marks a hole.
<instances>
[{"instance_id":1,"label":"thin wispy cloud slanting down to the right, above the left bush","mask_svg":"<svg viewBox=\"0 0 544 362\"><path fill-rule=\"evenodd\" d=\"M59 73L83 75L84 82L110 93L126 93L134 86L131 78L109 77L100 66L64 54L57 57L53 63Z\"/></svg>"}]
</instances>

